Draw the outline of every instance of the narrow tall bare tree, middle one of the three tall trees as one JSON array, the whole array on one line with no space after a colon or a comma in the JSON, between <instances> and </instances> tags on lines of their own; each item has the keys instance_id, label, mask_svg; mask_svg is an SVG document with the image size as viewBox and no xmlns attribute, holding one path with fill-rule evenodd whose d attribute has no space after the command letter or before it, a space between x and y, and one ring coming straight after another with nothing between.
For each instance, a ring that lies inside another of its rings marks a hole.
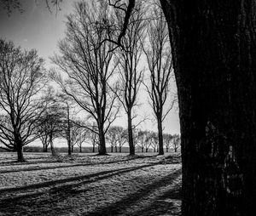
<instances>
[{"instance_id":1,"label":"narrow tall bare tree, middle one of the three tall trees","mask_svg":"<svg viewBox=\"0 0 256 216\"><path fill-rule=\"evenodd\" d=\"M124 11L115 10L117 25L122 26ZM119 101L125 109L128 120L128 143L130 155L135 154L132 134L132 120L136 117L133 107L137 105L138 91L143 80L143 70L138 68L138 63L143 54L143 40L145 22L142 3L131 14L131 20L127 26L126 34L122 37L120 48L116 55L119 60ZM124 49L125 48L125 49Z\"/></svg>"}]
</instances>

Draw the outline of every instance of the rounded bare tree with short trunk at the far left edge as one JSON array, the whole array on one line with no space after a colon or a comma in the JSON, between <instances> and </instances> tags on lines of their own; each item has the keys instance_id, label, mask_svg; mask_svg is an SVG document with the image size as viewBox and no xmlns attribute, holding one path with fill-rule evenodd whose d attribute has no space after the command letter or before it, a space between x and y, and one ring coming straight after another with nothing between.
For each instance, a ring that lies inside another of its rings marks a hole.
<instances>
[{"instance_id":1,"label":"rounded bare tree with short trunk at the far left edge","mask_svg":"<svg viewBox=\"0 0 256 216\"><path fill-rule=\"evenodd\" d=\"M25 161L23 146L38 139L38 118L47 105L40 97L45 82L43 60L35 50L21 51L0 40L0 109L6 115L0 137L6 148L17 151L18 162Z\"/></svg>"}]
</instances>

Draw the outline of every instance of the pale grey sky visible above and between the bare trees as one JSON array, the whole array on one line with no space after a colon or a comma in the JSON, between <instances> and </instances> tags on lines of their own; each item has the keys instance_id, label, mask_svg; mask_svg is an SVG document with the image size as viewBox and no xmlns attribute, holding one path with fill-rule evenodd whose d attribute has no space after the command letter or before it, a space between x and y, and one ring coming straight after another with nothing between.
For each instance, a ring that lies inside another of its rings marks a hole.
<instances>
[{"instance_id":1,"label":"pale grey sky visible above and between the bare trees","mask_svg":"<svg viewBox=\"0 0 256 216\"><path fill-rule=\"evenodd\" d=\"M24 49L36 48L38 55L46 61L46 67L50 68L50 56L58 52L57 43L61 38L65 37L65 21L66 15L73 12L73 0L64 0L61 3L61 11L52 9L52 13L47 9L44 0L22 0L22 9L24 12L14 11L8 16L6 11L0 8L0 37L6 41L12 41L16 46ZM145 64L145 62L142 62ZM175 83L172 83L175 88ZM140 106L137 111L140 116L152 116L152 108L148 105L148 96L142 89L140 91ZM171 101L166 101L166 105L170 105ZM139 121L139 120L137 120ZM120 117L116 125L126 128L126 118ZM163 122L164 133L179 134L179 120L177 108L167 115ZM140 125L143 129L157 131L155 121L148 120Z\"/></svg>"}]
</instances>

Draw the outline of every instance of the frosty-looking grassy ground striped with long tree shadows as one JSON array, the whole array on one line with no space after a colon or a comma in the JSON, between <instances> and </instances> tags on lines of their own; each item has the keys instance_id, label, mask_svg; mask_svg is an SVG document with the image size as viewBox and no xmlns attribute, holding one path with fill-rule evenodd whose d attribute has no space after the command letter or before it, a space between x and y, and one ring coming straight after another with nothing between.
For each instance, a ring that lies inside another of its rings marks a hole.
<instances>
[{"instance_id":1,"label":"frosty-looking grassy ground striped with long tree shadows","mask_svg":"<svg viewBox=\"0 0 256 216\"><path fill-rule=\"evenodd\" d=\"M180 215L178 154L0 153L0 215Z\"/></svg>"}]
</instances>

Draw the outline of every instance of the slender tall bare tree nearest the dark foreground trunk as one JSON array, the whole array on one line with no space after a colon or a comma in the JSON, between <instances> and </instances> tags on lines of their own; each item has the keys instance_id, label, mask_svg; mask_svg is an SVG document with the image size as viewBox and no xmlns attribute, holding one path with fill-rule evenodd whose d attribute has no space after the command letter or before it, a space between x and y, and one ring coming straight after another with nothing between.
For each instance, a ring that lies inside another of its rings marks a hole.
<instances>
[{"instance_id":1,"label":"slender tall bare tree nearest the dark foreground trunk","mask_svg":"<svg viewBox=\"0 0 256 216\"><path fill-rule=\"evenodd\" d=\"M164 154L163 127L162 122L166 115L171 111L172 104L164 110L166 99L170 92L170 79L172 77L172 53L168 35L168 28L165 16L160 10L160 6L154 3L151 13L154 19L148 22L148 43L145 43L143 51L148 61L150 72L150 82L145 83L150 98L150 105L153 108L154 116L157 121L159 154Z\"/></svg>"}]
</instances>

